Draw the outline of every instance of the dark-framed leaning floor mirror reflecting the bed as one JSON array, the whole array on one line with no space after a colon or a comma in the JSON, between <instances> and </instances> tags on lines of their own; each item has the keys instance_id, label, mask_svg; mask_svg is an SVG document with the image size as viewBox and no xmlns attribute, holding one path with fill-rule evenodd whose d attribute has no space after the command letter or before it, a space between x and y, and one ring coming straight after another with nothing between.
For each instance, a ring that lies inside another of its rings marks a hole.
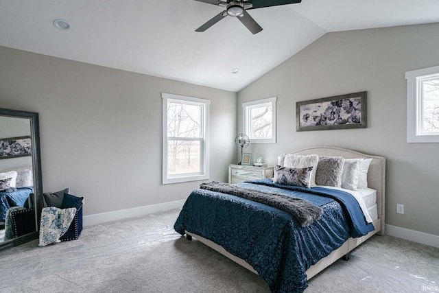
<instances>
[{"instance_id":1,"label":"dark-framed leaning floor mirror reflecting the bed","mask_svg":"<svg viewBox=\"0 0 439 293\"><path fill-rule=\"evenodd\" d=\"M0 108L0 250L38 238L42 196L38 113Z\"/></svg>"}]
</instances>

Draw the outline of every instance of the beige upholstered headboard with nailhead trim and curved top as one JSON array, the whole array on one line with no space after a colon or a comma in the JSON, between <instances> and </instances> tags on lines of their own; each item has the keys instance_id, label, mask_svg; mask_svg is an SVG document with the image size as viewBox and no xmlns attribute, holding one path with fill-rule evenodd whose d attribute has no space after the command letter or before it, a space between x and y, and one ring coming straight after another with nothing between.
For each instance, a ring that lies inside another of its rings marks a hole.
<instances>
[{"instance_id":1,"label":"beige upholstered headboard with nailhead trim and curved top","mask_svg":"<svg viewBox=\"0 0 439 293\"><path fill-rule=\"evenodd\" d=\"M317 154L318 156L342 156L344 159L372 159L368 171L368 187L377 190L378 218L381 219L380 234L384 235L385 226L385 158L371 156L355 150L335 147L313 147L290 152L291 154Z\"/></svg>"}]
</instances>

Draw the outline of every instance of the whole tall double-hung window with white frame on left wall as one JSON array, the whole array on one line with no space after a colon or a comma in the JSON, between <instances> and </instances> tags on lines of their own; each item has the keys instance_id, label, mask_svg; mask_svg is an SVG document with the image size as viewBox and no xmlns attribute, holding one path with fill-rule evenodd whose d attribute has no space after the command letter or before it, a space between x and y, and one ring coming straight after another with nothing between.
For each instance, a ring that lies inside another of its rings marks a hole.
<instances>
[{"instance_id":1,"label":"whole tall double-hung window with white frame on left wall","mask_svg":"<svg viewBox=\"0 0 439 293\"><path fill-rule=\"evenodd\" d=\"M162 93L163 184L209 179L208 99Z\"/></svg>"}]
</instances>

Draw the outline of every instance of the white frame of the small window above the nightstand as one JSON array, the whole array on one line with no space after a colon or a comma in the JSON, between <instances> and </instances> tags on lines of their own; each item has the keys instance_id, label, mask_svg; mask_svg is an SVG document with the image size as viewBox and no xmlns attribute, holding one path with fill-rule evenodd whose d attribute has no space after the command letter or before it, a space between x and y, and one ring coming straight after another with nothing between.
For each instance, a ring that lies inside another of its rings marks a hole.
<instances>
[{"instance_id":1,"label":"white frame of the small window above the nightstand","mask_svg":"<svg viewBox=\"0 0 439 293\"><path fill-rule=\"evenodd\" d=\"M276 101L277 97L269 97L267 99L258 99L252 102L242 103L242 127L243 132L250 138L250 143L276 143ZM263 106L264 104L271 104L272 106L272 137L261 139L250 136L250 110L252 108Z\"/></svg>"}]
</instances>

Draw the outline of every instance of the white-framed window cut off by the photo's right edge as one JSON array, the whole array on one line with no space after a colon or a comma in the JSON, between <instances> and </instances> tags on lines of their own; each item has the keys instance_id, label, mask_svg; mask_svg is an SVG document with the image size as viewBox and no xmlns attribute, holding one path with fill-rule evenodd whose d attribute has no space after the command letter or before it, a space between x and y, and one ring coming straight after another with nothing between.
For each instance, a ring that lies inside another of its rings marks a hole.
<instances>
[{"instance_id":1,"label":"white-framed window cut off by the photo's right edge","mask_svg":"<svg viewBox=\"0 0 439 293\"><path fill-rule=\"evenodd\" d=\"M439 66L408 71L407 143L439 142Z\"/></svg>"}]
</instances>

